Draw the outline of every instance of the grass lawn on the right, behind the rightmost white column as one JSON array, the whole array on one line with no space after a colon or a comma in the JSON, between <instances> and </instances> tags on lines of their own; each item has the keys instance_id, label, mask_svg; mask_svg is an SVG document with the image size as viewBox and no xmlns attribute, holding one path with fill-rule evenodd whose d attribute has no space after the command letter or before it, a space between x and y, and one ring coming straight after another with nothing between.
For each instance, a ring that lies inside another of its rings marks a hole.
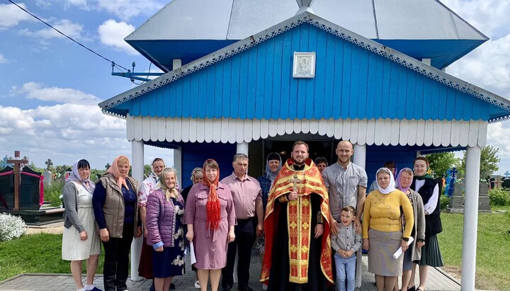
<instances>
[{"instance_id":1,"label":"grass lawn on the right, behind the rightmost white column","mask_svg":"<svg viewBox=\"0 0 510 291\"><path fill-rule=\"evenodd\" d=\"M438 234L445 269L460 279L463 241L462 214L441 213L443 232ZM510 290L510 214L478 216L476 287Z\"/></svg>"}]
</instances>

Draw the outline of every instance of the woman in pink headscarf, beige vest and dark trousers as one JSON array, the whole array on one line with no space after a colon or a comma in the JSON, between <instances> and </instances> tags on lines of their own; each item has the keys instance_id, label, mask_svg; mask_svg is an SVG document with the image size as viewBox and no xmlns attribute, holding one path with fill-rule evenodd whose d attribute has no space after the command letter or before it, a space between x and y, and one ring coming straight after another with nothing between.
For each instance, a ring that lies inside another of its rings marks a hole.
<instances>
[{"instance_id":1,"label":"woman in pink headscarf, beige vest and dark trousers","mask_svg":"<svg viewBox=\"0 0 510 291\"><path fill-rule=\"evenodd\" d=\"M128 290L129 252L133 236L142 235L138 223L137 181L128 176L130 161L118 156L96 183L94 216L103 241L103 280L106 291Z\"/></svg>"}]
</instances>

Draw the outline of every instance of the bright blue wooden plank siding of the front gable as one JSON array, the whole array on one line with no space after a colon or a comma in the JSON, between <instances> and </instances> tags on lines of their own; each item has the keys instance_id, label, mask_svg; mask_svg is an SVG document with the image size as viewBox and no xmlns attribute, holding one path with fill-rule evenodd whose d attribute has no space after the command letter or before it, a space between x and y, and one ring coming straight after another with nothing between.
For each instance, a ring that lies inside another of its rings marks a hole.
<instances>
[{"instance_id":1,"label":"bright blue wooden plank siding of the front gable","mask_svg":"<svg viewBox=\"0 0 510 291\"><path fill-rule=\"evenodd\" d=\"M292 77L295 51L317 53L315 78ZM489 120L502 112L308 23L128 103L132 115L172 118Z\"/></svg>"}]
</instances>

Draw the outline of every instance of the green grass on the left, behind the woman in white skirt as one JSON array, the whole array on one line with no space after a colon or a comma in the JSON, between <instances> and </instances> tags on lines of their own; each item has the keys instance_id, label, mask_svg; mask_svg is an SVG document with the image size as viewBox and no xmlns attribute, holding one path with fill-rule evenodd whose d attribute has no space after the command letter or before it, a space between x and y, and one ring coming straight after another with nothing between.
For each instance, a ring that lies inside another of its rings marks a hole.
<instances>
[{"instance_id":1,"label":"green grass on the left, behind the woman in white skirt","mask_svg":"<svg viewBox=\"0 0 510 291\"><path fill-rule=\"evenodd\" d=\"M0 281L21 273L71 273L62 260L62 234L33 234L0 243ZM85 263L84 263L85 267ZM85 272L85 268L84 268ZM103 257L97 273L103 272Z\"/></svg>"}]
</instances>

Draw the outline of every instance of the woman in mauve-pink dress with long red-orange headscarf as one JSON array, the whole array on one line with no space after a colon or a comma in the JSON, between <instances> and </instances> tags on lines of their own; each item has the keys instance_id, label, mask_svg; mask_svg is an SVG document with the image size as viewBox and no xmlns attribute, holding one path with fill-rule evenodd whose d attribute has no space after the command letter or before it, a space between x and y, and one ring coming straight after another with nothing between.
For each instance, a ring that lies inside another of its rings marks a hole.
<instances>
[{"instance_id":1,"label":"woman in mauve-pink dress with long red-orange headscarf","mask_svg":"<svg viewBox=\"0 0 510 291\"><path fill-rule=\"evenodd\" d=\"M193 241L200 290L217 291L221 269L227 265L227 246L234 241L236 224L234 201L229 188L220 183L220 167L213 159L205 161L204 179L191 187L184 210L188 227L186 238Z\"/></svg>"}]
</instances>

